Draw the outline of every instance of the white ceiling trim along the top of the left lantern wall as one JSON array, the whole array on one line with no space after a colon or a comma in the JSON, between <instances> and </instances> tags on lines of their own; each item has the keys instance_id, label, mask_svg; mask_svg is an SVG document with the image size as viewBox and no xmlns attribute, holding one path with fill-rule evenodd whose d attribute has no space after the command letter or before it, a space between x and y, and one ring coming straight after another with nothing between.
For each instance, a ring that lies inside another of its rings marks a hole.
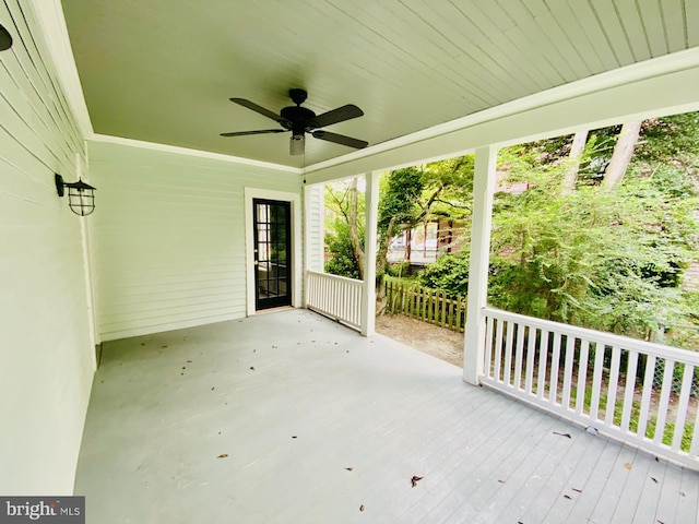
<instances>
[{"instance_id":1,"label":"white ceiling trim along the top of the left lantern wall","mask_svg":"<svg viewBox=\"0 0 699 524\"><path fill-rule=\"evenodd\" d=\"M73 48L68 37L68 25L60 0L29 0L34 17L38 22L48 52L51 55L58 82L78 121L83 139L94 134L83 87L78 74Z\"/></svg>"}]
</instances>

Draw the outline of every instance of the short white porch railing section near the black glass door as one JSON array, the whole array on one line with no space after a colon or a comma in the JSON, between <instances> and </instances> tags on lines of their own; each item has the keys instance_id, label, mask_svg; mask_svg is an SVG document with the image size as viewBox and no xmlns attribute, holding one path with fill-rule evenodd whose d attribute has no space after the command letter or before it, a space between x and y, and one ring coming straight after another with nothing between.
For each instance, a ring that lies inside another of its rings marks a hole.
<instances>
[{"instance_id":1,"label":"short white porch railing section near the black glass door","mask_svg":"<svg viewBox=\"0 0 699 524\"><path fill-rule=\"evenodd\" d=\"M306 307L356 330L362 330L363 293L362 281L306 272Z\"/></svg>"}]
</instances>

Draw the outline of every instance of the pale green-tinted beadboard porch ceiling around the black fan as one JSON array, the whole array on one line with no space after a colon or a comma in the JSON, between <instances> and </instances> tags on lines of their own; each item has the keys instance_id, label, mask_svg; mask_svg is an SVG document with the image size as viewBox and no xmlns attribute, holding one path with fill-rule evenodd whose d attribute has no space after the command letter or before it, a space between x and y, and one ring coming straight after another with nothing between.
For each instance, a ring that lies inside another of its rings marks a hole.
<instances>
[{"instance_id":1,"label":"pale green-tinted beadboard porch ceiling around the black fan","mask_svg":"<svg viewBox=\"0 0 699 524\"><path fill-rule=\"evenodd\" d=\"M277 124L292 87L369 147L699 46L699 0L62 0L94 131L301 167L354 150Z\"/></svg>"}]
</instances>

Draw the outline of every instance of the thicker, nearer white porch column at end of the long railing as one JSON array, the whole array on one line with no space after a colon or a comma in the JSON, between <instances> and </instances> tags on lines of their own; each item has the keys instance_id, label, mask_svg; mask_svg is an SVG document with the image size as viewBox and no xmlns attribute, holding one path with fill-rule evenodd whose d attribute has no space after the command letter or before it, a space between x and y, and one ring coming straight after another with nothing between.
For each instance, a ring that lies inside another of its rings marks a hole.
<instances>
[{"instance_id":1,"label":"thicker, nearer white porch column at end of the long railing","mask_svg":"<svg viewBox=\"0 0 699 524\"><path fill-rule=\"evenodd\" d=\"M473 181L473 223L471 226L471 265L464 333L463 380L477 384L483 373L485 324L482 309L488 300L488 264L490 259L490 224L497 147L476 150Z\"/></svg>"}]
</instances>

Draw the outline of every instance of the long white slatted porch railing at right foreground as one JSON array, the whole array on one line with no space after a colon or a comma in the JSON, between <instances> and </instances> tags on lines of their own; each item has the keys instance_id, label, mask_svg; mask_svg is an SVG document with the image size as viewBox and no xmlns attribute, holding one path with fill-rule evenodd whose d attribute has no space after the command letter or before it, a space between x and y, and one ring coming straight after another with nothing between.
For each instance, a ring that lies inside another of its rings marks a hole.
<instances>
[{"instance_id":1,"label":"long white slatted porch railing at right foreground","mask_svg":"<svg viewBox=\"0 0 699 524\"><path fill-rule=\"evenodd\" d=\"M699 468L699 354L485 308L482 383Z\"/></svg>"}]
</instances>

